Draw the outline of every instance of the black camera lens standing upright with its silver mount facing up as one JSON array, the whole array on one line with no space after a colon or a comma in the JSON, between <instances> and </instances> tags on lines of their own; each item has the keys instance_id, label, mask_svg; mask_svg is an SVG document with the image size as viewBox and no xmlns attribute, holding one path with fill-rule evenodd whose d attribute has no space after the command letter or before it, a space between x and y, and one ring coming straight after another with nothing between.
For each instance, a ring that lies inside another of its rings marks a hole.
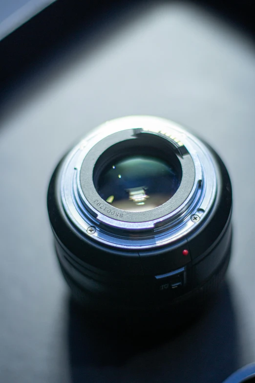
<instances>
[{"instance_id":1,"label":"black camera lens standing upright with its silver mount facing up","mask_svg":"<svg viewBox=\"0 0 255 383\"><path fill-rule=\"evenodd\" d=\"M227 169L172 121L127 116L99 126L56 167L47 205L64 278L91 311L175 316L205 301L227 270Z\"/></svg>"}]
</instances>

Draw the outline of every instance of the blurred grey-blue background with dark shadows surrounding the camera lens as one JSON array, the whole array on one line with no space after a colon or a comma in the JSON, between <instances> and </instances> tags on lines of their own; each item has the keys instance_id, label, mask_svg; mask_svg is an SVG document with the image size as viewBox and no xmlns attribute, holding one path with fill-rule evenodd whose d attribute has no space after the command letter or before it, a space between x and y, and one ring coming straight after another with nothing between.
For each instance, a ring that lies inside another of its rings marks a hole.
<instances>
[{"instance_id":1,"label":"blurred grey-blue background with dark shadows surrounding the camera lens","mask_svg":"<svg viewBox=\"0 0 255 383\"><path fill-rule=\"evenodd\" d=\"M255 361L254 9L252 0L1 2L0 382L221 383ZM232 178L226 282L174 333L92 326L55 259L46 191L57 161L128 114L190 127Z\"/></svg>"}]
</instances>

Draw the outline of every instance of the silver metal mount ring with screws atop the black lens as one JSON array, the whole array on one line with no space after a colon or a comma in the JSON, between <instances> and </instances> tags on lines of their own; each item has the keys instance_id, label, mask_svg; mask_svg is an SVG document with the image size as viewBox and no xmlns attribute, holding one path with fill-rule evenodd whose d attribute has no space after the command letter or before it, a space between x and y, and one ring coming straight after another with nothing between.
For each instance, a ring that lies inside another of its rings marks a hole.
<instances>
[{"instance_id":1,"label":"silver metal mount ring with screws atop the black lens","mask_svg":"<svg viewBox=\"0 0 255 383\"><path fill-rule=\"evenodd\" d=\"M163 157L176 156L182 171L180 186L169 201L148 211L113 207L97 193L95 166L104 153L106 159L108 153L141 146L154 146ZM122 117L99 126L67 155L61 198L67 217L83 235L114 248L152 248L201 225L215 200L216 172L208 148L180 125L152 116Z\"/></svg>"}]
</instances>

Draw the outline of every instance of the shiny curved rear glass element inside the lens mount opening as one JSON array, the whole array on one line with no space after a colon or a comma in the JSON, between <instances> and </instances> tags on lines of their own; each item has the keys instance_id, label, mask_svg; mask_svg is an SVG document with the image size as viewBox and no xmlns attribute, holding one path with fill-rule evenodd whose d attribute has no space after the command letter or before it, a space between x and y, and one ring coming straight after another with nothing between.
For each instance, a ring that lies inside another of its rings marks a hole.
<instances>
[{"instance_id":1,"label":"shiny curved rear glass element inside the lens mount opening","mask_svg":"<svg viewBox=\"0 0 255 383\"><path fill-rule=\"evenodd\" d=\"M164 160L129 156L100 174L96 189L107 203L127 211L146 211L167 202L180 186L181 177Z\"/></svg>"}]
</instances>

